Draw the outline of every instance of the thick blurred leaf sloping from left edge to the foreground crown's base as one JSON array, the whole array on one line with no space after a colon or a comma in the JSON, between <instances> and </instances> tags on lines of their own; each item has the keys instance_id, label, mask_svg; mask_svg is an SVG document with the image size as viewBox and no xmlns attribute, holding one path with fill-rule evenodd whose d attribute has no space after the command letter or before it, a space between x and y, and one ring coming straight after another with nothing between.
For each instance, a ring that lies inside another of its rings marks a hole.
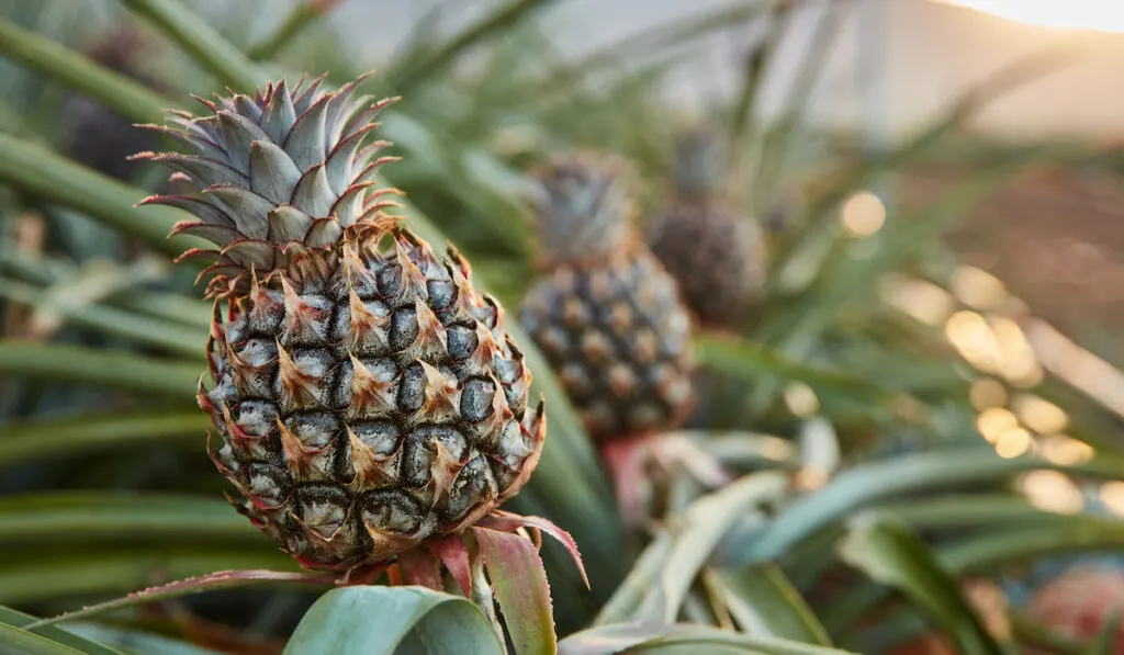
<instances>
[{"instance_id":1,"label":"thick blurred leaf sloping from left edge to the foreground crown's base","mask_svg":"<svg viewBox=\"0 0 1124 655\"><path fill-rule=\"evenodd\" d=\"M167 238L172 226L188 218L187 212L157 204L135 207L147 193L6 134L0 134L0 181L88 213L163 253L179 255L207 245L194 237Z\"/></svg>"}]
</instances>

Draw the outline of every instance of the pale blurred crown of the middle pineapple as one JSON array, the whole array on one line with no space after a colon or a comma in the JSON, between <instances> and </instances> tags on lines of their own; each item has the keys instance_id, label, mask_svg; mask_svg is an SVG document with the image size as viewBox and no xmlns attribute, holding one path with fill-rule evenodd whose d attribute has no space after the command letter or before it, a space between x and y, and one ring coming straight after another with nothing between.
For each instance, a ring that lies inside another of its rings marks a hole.
<instances>
[{"instance_id":1,"label":"pale blurred crown of the middle pineapple","mask_svg":"<svg viewBox=\"0 0 1124 655\"><path fill-rule=\"evenodd\" d=\"M529 193L547 264L619 252L632 233L634 176L601 153L555 154L532 171Z\"/></svg>"}]
</instances>

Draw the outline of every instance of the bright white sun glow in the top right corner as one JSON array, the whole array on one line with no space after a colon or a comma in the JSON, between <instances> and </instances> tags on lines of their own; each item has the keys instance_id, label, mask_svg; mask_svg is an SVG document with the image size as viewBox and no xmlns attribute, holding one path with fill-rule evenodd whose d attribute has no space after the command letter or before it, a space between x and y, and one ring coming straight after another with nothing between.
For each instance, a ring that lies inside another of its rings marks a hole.
<instances>
[{"instance_id":1,"label":"bright white sun glow in the top right corner","mask_svg":"<svg viewBox=\"0 0 1124 655\"><path fill-rule=\"evenodd\" d=\"M943 1L1036 27L1124 31L1124 4L1112 0Z\"/></svg>"}]
</instances>

